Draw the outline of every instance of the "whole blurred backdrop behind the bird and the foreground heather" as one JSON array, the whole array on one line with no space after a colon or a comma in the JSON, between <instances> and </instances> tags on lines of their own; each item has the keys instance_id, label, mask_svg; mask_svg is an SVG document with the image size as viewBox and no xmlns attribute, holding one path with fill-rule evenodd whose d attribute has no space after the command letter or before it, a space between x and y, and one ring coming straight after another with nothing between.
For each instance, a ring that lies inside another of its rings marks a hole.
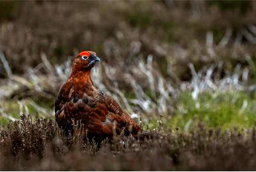
<instances>
[{"instance_id":1,"label":"whole blurred backdrop behind the bird and the foreground heather","mask_svg":"<svg viewBox=\"0 0 256 172\"><path fill-rule=\"evenodd\" d=\"M256 1L0 1L0 125L54 118L73 56L145 129L253 127Z\"/></svg>"}]
</instances>

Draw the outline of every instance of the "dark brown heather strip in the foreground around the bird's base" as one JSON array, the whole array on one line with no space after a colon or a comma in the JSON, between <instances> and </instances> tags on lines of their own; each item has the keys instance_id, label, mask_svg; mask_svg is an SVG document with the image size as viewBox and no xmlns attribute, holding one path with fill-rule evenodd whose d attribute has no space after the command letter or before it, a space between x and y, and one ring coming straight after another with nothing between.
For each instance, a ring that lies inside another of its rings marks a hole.
<instances>
[{"instance_id":1,"label":"dark brown heather strip in the foreground around the bird's base","mask_svg":"<svg viewBox=\"0 0 256 172\"><path fill-rule=\"evenodd\" d=\"M248 130L206 129L190 132L157 129L159 138L135 140L118 136L98 145L83 141L75 127L66 137L54 121L22 117L1 131L1 170L154 171L254 170L255 127Z\"/></svg>"}]
</instances>

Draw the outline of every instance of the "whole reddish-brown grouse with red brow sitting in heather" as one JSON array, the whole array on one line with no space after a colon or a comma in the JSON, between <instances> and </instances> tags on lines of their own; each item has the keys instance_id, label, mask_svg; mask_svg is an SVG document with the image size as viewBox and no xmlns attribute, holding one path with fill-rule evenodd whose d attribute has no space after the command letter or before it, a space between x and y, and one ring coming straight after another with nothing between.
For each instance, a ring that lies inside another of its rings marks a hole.
<instances>
[{"instance_id":1,"label":"whole reddish-brown grouse with red brow sitting in heather","mask_svg":"<svg viewBox=\"0 0 256 172\"><path fill-rule=\"evenodd\" d=\"M73 123L80 123L87 132L87 138L101 142L112 140L114 135L148 135L124 111L114 98L95 86L91 69L101 59L94 51L82 51L75 55L71 74L60 88L55 101L55 117L58 126L65 132L72 132Z\"/></svg>"}]
</instances>

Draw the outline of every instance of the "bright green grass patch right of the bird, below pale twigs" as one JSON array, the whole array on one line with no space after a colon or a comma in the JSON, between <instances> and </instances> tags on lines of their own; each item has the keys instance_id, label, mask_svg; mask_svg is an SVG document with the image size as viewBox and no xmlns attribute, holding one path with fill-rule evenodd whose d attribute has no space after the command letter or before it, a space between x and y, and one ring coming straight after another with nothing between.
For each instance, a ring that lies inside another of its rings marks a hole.
<instances>
[{"instance_id":1,"label":"bright green grass patch right of the bird, below pale twigs","mask_svg":"<svg viewBox=\"0 0 256 172\"><path fill-rule=\"evenodd\" d=\"M169 125L188 130L202 121L207 127L253 127L256 100L243 92L202 93L194 100L191 92L179 96Z\"/></svg>"}]
</instances>

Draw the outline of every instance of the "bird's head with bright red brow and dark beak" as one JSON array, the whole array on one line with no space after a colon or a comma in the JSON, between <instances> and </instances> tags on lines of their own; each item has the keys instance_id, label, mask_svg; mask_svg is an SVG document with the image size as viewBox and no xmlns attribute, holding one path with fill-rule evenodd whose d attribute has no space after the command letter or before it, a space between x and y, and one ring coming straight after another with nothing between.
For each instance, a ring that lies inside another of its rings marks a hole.
<instances>
[{"instance_id":1,"label":"bird's head with bright red brow and dark beak","mask_svg":"<svg viewBox=\"0 0 256 172\"><path fill-rule=\"evenodd\" d=\"M90 70L97 61L101 61L93 51L82 51L75 56L74 65L78 70Z\"/></svg>"}]
</instances>

